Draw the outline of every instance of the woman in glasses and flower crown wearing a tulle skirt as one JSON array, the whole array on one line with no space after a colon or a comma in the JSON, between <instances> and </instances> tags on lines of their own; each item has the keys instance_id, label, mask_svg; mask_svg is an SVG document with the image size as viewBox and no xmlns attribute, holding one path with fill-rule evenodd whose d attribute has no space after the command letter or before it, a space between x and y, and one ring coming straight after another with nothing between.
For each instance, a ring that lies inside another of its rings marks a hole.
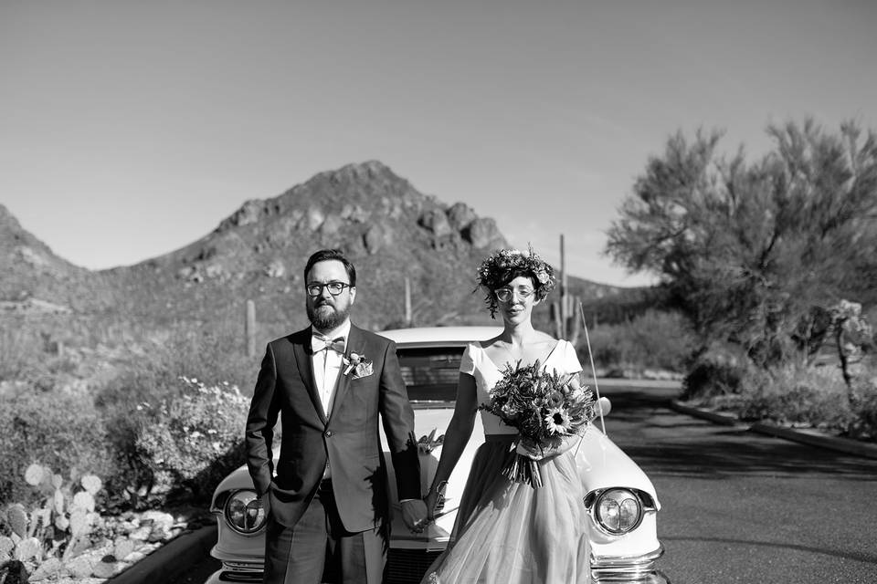
<instances>
[{"instance_id":1,"label":"woman in glasses and flower crown wearing a tulle skirt","mask_svg":"<svg viewBox=\"0 0 877 584\"><path fill-rule=\"evenodd\" d=\"M532 249L490 255L478 270L478 284L487 294L491 317L497 312L502 316L503 329L493 339L470 344L463 353L457 403L425 497L430 519L470 439L479 406L490 401L489 391L508 364L525 366L538 360L548 372L582 370L568 341L533 328L533 308L555 286L555 276ZM571 384L577 387L576 377ZM567 439L540 460L542 485L534 488L502 474L515 455L517 431L490 412L481 412L481 422L485 442L472 461L449 547L427 570L422 584L588 581L585 493L576 474L575 451L570 450L578 438Z\"/></svg>"}]
</instances>

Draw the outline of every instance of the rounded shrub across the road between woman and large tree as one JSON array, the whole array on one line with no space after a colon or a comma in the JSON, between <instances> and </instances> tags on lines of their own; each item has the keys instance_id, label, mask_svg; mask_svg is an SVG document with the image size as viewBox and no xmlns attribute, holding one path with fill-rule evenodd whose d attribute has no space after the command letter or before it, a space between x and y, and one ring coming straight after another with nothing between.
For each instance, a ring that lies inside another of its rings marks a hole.
<instances>
[{"instance_id":1,"label":"rounded shrub across the road between woman and large tree","mask_svg":"<svg viewBox=\"0 0 877 584\"><path fill-rule=\"evenodd\" d=\"M588 331L594 362L602 370L681 371L692 351L692 333L676 312L647 310L629 322ZM582 357L587 360L584 342Z\"/></svg>"}]
</instances>

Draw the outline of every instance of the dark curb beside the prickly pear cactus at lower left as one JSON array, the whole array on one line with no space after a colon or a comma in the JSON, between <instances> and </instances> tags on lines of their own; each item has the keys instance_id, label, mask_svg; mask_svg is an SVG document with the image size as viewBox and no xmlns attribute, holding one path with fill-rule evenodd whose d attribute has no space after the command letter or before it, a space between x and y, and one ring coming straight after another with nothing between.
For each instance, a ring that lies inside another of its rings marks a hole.
<instances>
[{"instance_id":1,"label":"dark curb beside the prickly pear cactus at lower left","mask_svg":"<svg viewBox=\"0 0 877 584\"><path fill-rule=\"evenodd\" d=\"M152 584L174 579L188 568L185 558L204 554L217 541L217 526L187 531L157 547L153 553L125 568L104 584Z\"/></svg>"}]
</instances>

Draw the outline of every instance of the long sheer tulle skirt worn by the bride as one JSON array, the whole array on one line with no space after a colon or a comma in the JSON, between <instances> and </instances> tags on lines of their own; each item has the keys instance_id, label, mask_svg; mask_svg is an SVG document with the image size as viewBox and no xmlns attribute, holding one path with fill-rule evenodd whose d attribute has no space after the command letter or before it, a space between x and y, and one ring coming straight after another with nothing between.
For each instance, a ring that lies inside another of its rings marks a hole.
<instances>
[{"instance_id":1,"label":"long sheer tulle skirt worn by the bride","mask_svg":"<svg viewBox=\"0 0 877 584\"><path fill-rule=\"evenodd\" d=\"M513 483L511 441L475 454L447 550L421 584L575 584L588 581L583 486L572 451L540 463L543 485Z\"/></svg>"}]
</instances>

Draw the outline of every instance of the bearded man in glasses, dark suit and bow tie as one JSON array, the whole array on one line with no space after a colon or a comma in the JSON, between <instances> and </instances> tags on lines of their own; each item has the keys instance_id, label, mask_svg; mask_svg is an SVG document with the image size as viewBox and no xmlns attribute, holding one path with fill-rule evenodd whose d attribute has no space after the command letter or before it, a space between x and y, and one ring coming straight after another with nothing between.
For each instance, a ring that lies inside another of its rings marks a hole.
<instances>
[{"instance_id":1,"label":"bearded man in glasses, dark suit and bow tie","mask_svg":"<svg viewBox=\"0 0 877 584\"><path fill-rule=\"evenodd\" d=\"M354 266L338 250L318 251L304 283L312 326L269 343L247 419L249 474L269 517L264 581L319 584L328 566L343 584L378 584L390 526L378 414L403 519L419 532L427 509L414 412L396 345L350 322Z\"/></svg>"}]
</instances>

